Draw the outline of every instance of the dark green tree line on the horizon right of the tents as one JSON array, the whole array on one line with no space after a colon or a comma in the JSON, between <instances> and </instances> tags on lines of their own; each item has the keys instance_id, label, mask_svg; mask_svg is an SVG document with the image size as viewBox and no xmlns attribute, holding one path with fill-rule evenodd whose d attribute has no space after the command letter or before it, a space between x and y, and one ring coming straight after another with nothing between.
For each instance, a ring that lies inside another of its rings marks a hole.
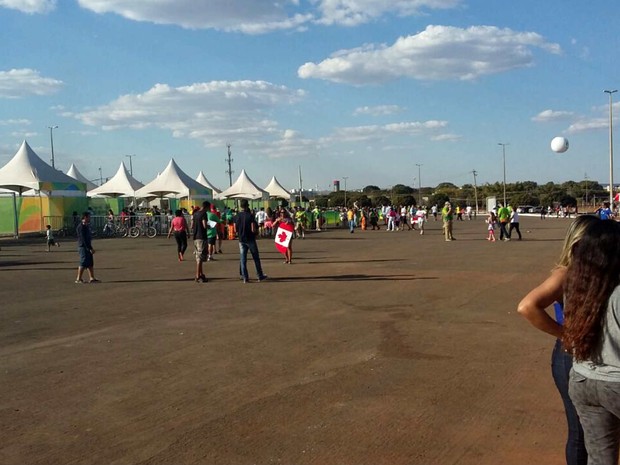
<instances>
[{"instance_id":1,"label":"dark green tree line on the horizon right of the tents","mask_svg":"<svg viewBox=\"0 0 620 465\"><path fill-rule=\"evenodd\" d=\"M477 194L477 195L476 195ZM369 185L361 190L334 191L328 195L317 195L315 204L320 208L351 207L356 203L359 207L379 207L381 205L443 205L446 201L453 204L475 207L476 196L478 206L486 205L487 197L496 197L498 202L504 198L504 185L501 182L486 183L474 187L464 184L458 187L450 182L442 182L435 187L415 187L396 184L387 189ZM345 205L346 197L346 205ZM538 184L534 181L506 183L506 201L513 206L562 206L580 209L599 204L609 198L609 192L599 183L584 181L567 181L561 184L548 182Z\"/></svg>"}]
</instances>

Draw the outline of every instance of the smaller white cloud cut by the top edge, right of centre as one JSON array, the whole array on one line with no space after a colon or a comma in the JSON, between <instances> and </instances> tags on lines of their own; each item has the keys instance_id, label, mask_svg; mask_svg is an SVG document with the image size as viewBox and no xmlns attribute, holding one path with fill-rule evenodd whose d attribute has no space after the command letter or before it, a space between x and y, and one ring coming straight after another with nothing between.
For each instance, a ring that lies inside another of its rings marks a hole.
<instances>
[{"instance_id":1,"label":"smaller white cloud cut by the top edge, right of centre","mask_svg":"<svg viewBox=\"0 0 620 465\"><path fill-rule=\"evenodd\" d=\"M411 16L423 10L455 8L461 0L321 0L319 23L356 26L385 14Z\"/></svg>"}]
</instances>

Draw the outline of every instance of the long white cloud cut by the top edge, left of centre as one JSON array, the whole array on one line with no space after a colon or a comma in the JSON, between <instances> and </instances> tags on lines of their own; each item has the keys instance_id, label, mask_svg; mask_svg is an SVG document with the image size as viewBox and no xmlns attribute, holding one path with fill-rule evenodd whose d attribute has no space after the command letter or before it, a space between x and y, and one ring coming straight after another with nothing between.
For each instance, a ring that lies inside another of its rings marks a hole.
<instances>
[{"instance_id":1,"label":"long white cloud cut by the top edge, left of centre","mask_svg":"<svg viewBox=\"0 0 620 465\"><path fill-rule=\"evenodd\" d=\"M299 28L313 19L310 13L292 11L298 2L287 0L78 0L78 3L95 13L115 13L133 21L247 34Z\"/></svg>"}]
</instances>

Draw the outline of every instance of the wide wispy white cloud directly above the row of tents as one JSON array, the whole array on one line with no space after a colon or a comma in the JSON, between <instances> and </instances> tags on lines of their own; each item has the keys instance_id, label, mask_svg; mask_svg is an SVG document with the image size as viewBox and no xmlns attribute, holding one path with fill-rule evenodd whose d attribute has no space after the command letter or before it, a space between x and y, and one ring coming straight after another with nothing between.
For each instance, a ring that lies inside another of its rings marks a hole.
<instances>
[{"instance_id":1,"label":"wide wispy white cloud directly above the row of tents","mask_svg":"<svg viewBox=\"0 0 620 465\"><path fill-rule=\"evenodd\" d=\"M295 103L303 91L264 81L211 81L183 87L157 84L143 94L123 95L107 105L65 113L105 130L160 128L207 146L279 137L269 111Z\"/></svg>"}]
</instances>

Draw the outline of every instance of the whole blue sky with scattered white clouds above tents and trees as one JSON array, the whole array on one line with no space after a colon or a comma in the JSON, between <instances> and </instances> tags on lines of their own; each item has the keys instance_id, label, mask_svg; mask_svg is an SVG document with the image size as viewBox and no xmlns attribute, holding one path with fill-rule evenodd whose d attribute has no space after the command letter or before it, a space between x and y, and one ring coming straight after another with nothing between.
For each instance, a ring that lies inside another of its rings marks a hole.
<instances>
[{"instance_id":1,"label":"whole blue sky with scattered white clouds above tents and trees","mask_svg":"<svg viewBox=\"0 0 620 465\"><path fill-rule=\"evenodd\" d=\"M144 183L174 158L226 188L231 144L233 181L261 187L297 187L300 166L320 190L482 184L503 178L501 142L508 182L606 183L618 6L0 0L0 164L24 139L49 161L57 125L56 167L93 180L135 155Z\"/></svg>"}]
</instances>

